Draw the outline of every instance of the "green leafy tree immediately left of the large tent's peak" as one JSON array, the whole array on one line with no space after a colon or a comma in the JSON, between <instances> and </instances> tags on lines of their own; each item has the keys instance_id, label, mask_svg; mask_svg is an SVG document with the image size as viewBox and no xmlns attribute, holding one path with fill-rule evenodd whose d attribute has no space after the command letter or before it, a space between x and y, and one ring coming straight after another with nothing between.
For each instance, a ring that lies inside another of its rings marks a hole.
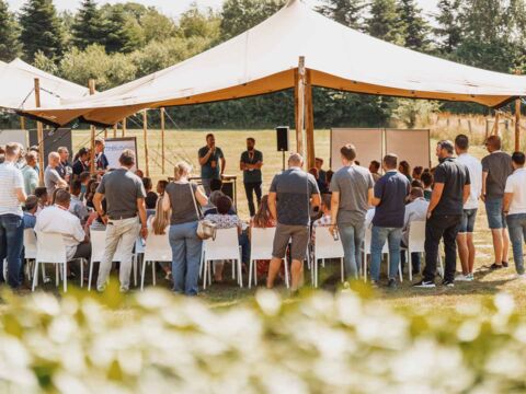
<instances>
[{"instance_id":1,"label":"green leafy tree immediately left of the large tent's peak","mask_svg":"<svg viewBox=\"0 0 526 394\"><path fill-rule=\"evenodd\" d=\"M263 22L285 5L285 0L226 0L221 10L221 36L235 37Z\"/></svg>"}]
</instances>

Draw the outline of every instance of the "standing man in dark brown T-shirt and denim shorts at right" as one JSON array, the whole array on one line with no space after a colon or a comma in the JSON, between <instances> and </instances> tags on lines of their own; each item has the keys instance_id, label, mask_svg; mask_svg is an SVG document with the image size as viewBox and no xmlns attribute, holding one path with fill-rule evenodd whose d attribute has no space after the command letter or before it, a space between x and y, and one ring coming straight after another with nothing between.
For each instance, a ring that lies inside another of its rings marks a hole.
<instances>
[{"instance_id":1,"label":"standing man in dark brown T-shirt and denim shorts at right","mask_svg":"<svg viewBox=\"0 0 526 394\"><path fill-rule=\"evenodd\" d=\"M502 200L507 177L513 173L512 158L501 151L501 137L490 136L485 141L488 154L482 159L482 200L485 204L488 224L493 236L495 260L490 269L507 267L510 237Z\"/></svg>"}]
</instances>

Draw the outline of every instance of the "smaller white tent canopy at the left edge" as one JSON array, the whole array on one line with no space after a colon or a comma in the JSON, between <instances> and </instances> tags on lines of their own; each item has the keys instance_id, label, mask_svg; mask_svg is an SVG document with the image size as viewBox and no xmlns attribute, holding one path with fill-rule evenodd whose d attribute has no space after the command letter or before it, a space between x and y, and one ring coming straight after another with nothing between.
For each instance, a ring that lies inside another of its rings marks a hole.
<instances>
[{"instance_id":1,"label":"smaller white tent canopy at the left edge","mask_svg":"<svg viewBox=\"0 0 526 394\"><path fill-rule=\"evenodd\" d=\"M43 107L59 106L65 100L85 97L89 93L87 88L14 59L0 63L0 107L20 111L35 107L35 78L39 79Z\"/></svg>"}]
</instances>

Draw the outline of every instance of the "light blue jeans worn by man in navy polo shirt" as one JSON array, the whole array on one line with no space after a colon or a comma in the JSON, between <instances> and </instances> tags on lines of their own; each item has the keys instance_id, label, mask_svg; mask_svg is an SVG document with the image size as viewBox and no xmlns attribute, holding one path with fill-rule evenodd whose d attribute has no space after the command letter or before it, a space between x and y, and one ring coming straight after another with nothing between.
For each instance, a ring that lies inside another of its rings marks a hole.
<instances>
[{"instance_id":1,"label":"light blue jeans worn by man in navy polo shirt","mask_svg":"<svg viewBox=\"0 0 526 394\"><path fill-rule=\"evenodd\" d=\"M402 241L401 228L380 228L373 225L370 239L370 278L380 278L381 250L389 242L389 279L396 279L400 264L400 242Z\"/></svg>"}]
</instances>

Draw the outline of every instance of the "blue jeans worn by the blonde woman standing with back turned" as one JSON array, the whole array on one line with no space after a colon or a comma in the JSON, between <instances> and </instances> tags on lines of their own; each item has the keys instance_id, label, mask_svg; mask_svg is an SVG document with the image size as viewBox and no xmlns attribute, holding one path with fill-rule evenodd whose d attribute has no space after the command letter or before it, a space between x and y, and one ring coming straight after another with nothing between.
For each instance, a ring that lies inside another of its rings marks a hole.
<instances>
[{"instance_id":1,"label":"blue jeans worn by the blonde woman standing with back turned","mask_svg":"<svg viewBox=\"0 0 526 394\"><path fill-rule=\"evenodd\" d=\"M196 234L197 222L170 225L173 291L196 296L203 242Z\"/></svg>"}]
</instances>

